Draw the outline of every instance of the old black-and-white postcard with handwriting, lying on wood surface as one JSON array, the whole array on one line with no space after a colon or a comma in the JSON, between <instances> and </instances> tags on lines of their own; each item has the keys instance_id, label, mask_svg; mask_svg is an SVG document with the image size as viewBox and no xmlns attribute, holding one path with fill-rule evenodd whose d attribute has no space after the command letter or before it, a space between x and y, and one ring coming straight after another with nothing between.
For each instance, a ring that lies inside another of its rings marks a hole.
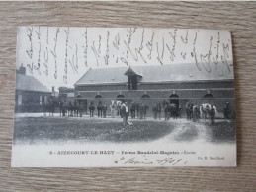
<instances>
[{"instance_id":1,"label":"old black-and-white postcard with handwriting, lying on wood surface","mask_svg":"<svg viewBox=\"0 0 256 192\"><path fill-rule=\"evenodd\" d=\"M19 27L12 166L236 166L231 33Z\"/></svg>"}]
</instances>

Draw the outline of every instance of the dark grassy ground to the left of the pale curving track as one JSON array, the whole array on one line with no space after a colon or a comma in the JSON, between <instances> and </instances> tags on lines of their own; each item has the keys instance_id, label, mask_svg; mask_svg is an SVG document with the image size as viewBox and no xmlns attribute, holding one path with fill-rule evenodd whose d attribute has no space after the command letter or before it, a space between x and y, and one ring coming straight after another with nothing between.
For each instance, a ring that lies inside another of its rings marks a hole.
<instances>
[{"instance_id":1,"label":"dark grassy ground to the left of the pale curving track","mask_svg":"<svg viewBox=\"0 0 256 192\"><path fill-rule=\"evenodd\" d=\"M135 121L124 128L122 121L98 118L15 118L14 144L76 142L145 142L159 139L174 129L164 121Z\"/></svg>"}]
</instances>

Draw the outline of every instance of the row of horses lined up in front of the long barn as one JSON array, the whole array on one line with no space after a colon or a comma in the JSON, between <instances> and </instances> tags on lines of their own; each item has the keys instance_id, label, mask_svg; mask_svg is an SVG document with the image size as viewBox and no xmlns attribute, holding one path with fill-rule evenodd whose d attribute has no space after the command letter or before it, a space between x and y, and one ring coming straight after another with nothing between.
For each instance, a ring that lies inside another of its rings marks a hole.
<instances>
[{"instance_id":1,"label":"row of horses lined up in front of the long barn","mask_svg":"<svg viewBox=\"0 0 256 192\"><path fill-rule=\"evenodd\" d=\"M99 102L100 104L101 102ZM98 104L98 116L99 111L101 111ZM119 116L121 115L123 102L121 100L111 100L110 112L111 116ZM48 100L45 104L43 104L43 112L46 115L54 115L55 108L59 108L60 116L82 116L82 110L84 107L79 100L73 100L69 102L62 102L56 100ZM95 110L94 103L91 102L89 105L90 115ZM102 104L102 110L106 117L107 106ZM131 113L131 118L146 118L147 110L149 109L148 105L138 102L131 102L129 111ZM194 122L198 121L198 119L202 118L205 122L208 120L210 123L214 123L215 114L217 112L216 107L209 103L203 103L200 106L193 104L191 102L187 102L185 105L187 120L193 120ZM154 119L161 118L161 112L164 111L165 120L169 120L171 117L173 119L181 118L182 107L179 107L176 103L168 103L163 100L162 102L157 102L153 104L152 107L153 117ZM100 113L101 114L101 113ZM92 115L93 116L93 115ZM102 116L102 115L100 115Z\"/></svg>"}]
</instances>

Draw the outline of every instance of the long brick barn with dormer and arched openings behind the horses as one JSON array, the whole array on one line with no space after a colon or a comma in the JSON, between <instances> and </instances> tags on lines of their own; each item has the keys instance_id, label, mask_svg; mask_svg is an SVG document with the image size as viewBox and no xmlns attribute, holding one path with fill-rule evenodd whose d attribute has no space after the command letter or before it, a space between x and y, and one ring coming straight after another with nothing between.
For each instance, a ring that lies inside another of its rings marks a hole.
<instances>
[{"instance_id":1,"label":"long brick barn with dormer and arched openings behind the horses","mask_svg":"<svg viewBox=\"0 0 256 192\"><path fill-rule=\"evenodd\" d=\"M229 102L234 112L233 72L220 64L211 72L196 64L89 69L74 86L76 97L96 104L102 100L108 106L114 99L144 102L151 112L152 105L162 100L182 108L188 101L207 102L221 113Z\"/></svg>"}]
</instances>

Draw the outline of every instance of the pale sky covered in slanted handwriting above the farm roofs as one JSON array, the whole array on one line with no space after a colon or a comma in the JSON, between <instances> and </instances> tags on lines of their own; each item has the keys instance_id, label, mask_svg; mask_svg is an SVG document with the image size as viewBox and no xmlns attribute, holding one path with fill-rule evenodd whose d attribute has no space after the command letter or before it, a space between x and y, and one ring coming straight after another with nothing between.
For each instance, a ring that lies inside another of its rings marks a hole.
<instances>
[{"instance_id":1,"label":"pale sky covered in slanted handwriting above the farm roofs","mask_svg":"<svg viewBox=\"0 0 256 192\"><path fill-rule=\"evenodd\" d=\"M19 27L16 68L26 67L49 90L73 87L90 68L191 63L233 74L225 30ZM225 75L225 74L224 74Z\"/></svg>"}]
</instances>

